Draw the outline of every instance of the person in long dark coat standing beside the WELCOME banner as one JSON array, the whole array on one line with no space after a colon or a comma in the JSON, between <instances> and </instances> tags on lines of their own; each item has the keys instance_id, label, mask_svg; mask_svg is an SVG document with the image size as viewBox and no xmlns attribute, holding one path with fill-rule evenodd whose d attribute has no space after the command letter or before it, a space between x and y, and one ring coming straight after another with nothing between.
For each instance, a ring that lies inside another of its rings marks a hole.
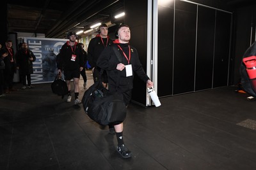
<instances>
[{"instance_id":1,"label":"person in long dark coat standing beside the WELCOME banner","mask_svg":"<svg viewBox=\"0 0 256 170\"><path fill-rule=\"evenodd\" d=\"M15 55L17 61L17 69L19 69L20 78L22 81L22 90L33 89L31 85L31 74L33 74L33 62L36 60L34 53L28 49L27 43L22 43L20 50ZM28 87L27 83L28 81Z\"/></svg>"}]
</instances>

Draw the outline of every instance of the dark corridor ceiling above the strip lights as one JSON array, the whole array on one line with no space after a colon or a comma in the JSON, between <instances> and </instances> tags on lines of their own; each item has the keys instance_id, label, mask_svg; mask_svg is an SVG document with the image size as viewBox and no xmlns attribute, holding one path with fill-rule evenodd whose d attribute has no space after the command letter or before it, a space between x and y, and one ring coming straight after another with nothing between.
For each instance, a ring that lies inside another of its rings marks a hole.
<instances>
[{"instance_id":1,"label":"dark corridor ceiling above the strip lights","mask_svg":"<svg viewBox=\"0 0 256 170\"><path fill-rule=\"evenodd\" d=\"M220 1L230 6L255 2ZM43 33L46 38L65 38L68 31L89 29L97 22L112 20L113 23L113 15L120 11L124 11L124 0L8 0L7 27L8 32Z\"/></svg>"}]
</instances>

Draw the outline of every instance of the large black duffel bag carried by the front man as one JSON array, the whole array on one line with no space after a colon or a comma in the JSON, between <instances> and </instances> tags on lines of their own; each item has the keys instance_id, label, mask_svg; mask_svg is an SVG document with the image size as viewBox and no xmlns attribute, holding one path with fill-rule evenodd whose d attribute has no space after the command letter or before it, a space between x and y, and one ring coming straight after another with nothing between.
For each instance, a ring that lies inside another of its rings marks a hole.
<instances>
[{"instance_id":1,"label":"large black duffel bag carried by the front man","mask_svg":"<svg viewBox=\"0 0 256 170\"><path fill-rule=\"evenodd\" d=\"M109 92L100 80L84 92L82 103L86 114L100 125L115 125L125 120L123 95Z\"/></svg>"}]
</instances>

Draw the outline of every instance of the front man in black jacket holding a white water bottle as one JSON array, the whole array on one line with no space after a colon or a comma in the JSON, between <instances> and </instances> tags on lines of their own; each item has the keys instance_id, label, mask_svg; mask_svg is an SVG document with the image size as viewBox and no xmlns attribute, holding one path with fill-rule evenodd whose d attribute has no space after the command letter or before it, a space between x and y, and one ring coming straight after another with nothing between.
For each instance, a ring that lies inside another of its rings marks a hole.
<instances>
[{"instance_id":1,"label":"front man in black jacket holding a white water bottle","mask_svg":"<svg viewBox=\"0 0 256 170\"><path fill-rule=\"evenodd\" d=\"M120 25L116 31L116 39L100 55L97 66L107 71L108 89L110 92L120 92L124 96L126 106L131 101L134 73L147 83L154 84L143 70L137 50L129 45L131 32L128 25ZM124 146L123 123L115 124L117 151L124 158L131 157L131 152Z\"/></svg>"}]
</instances>

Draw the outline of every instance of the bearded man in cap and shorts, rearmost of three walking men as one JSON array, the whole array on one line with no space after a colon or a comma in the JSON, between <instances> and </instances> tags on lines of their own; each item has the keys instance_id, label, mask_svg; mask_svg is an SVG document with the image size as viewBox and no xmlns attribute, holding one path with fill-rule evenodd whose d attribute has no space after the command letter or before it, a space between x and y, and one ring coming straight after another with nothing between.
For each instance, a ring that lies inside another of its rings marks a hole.
<instances>
[{"instance_id":1,"label":"bearded man in cap and shorts, rearmost of three walking men","mask_svg":"<svg viewBox=\"0 0 256 170\"><path fill-rule=\"evenodd\" d=\"M77 35L75 32L68 32L67 38L69 41L65 43L60 50L58 56L58 73L61 74L61 69L64 71L65 80L68 86L68 98L67 102L71 102L71 85L70 80L74 81L74 93L75 101L74 104L80 104L81 101L78 99L79 96L79 78L80 72L84 67L84 57L81 47L77 44Z\"/></svg>"}]
</instances>

